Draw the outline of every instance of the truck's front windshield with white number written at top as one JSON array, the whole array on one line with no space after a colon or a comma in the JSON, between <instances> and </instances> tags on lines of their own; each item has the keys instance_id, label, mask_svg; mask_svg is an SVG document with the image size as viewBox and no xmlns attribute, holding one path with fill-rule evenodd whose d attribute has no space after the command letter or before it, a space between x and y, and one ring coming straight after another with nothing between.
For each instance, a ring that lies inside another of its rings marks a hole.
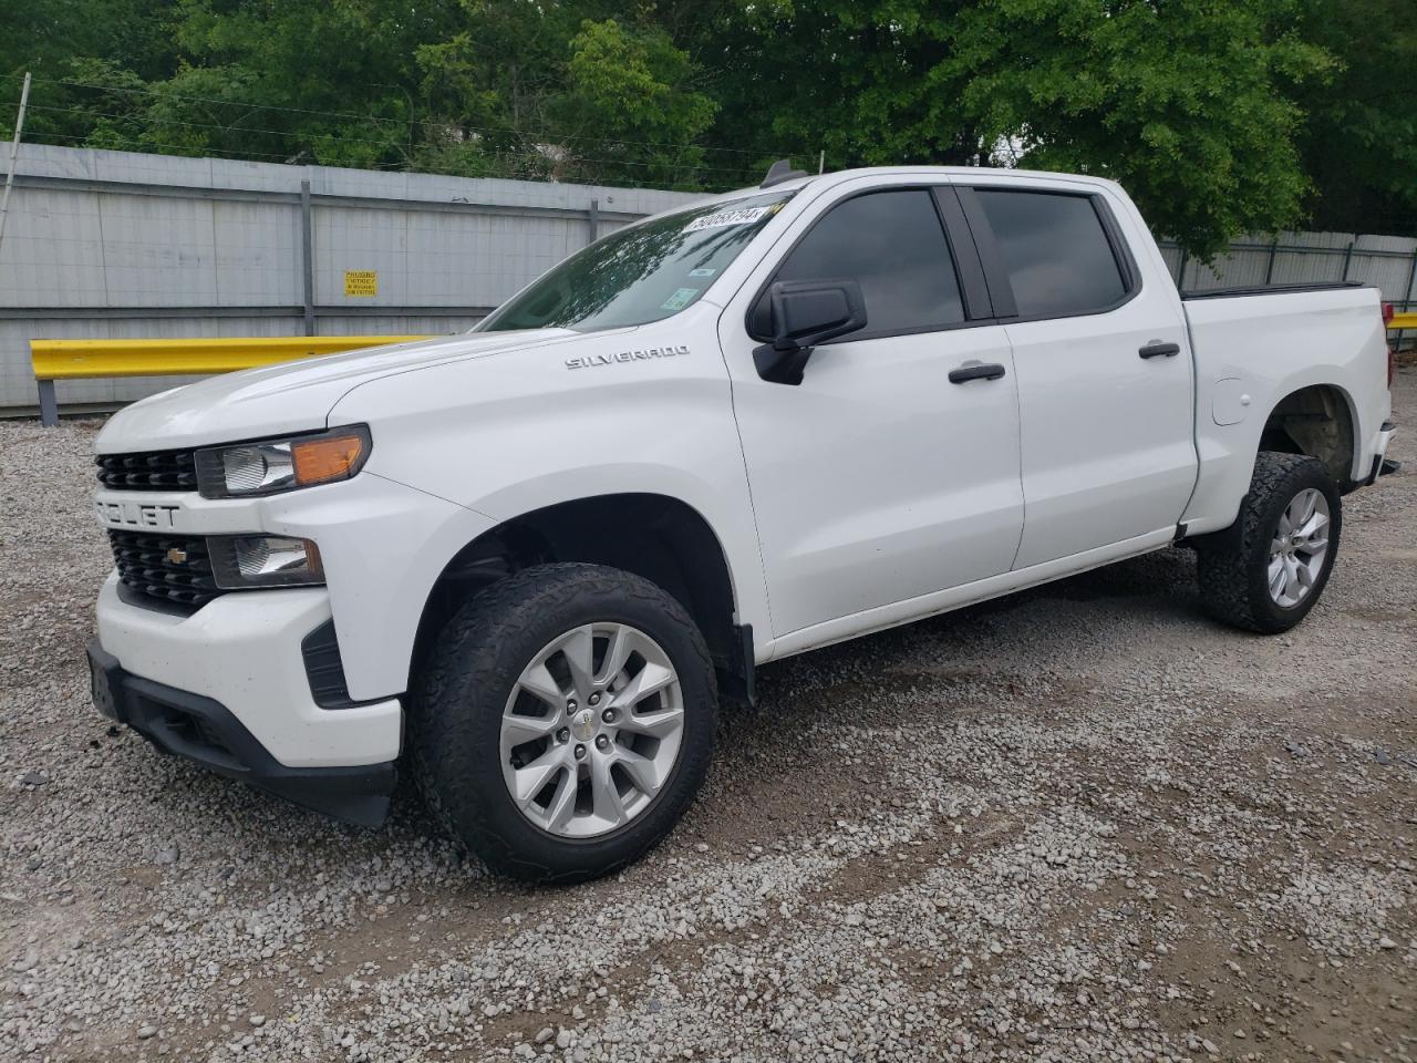
<instances>
[{"instance_id":1,"label":"truck's front windshield with white number written at top","mask_svg":"<svg viewBox=\"0 0 1417 1063\"><path fill-rule=\"evenodd\" d=\"M697 302L789 198L752 196L623 228L503 303L478 332L594 332L669 317Z\"/></svg>"}]
</instances>

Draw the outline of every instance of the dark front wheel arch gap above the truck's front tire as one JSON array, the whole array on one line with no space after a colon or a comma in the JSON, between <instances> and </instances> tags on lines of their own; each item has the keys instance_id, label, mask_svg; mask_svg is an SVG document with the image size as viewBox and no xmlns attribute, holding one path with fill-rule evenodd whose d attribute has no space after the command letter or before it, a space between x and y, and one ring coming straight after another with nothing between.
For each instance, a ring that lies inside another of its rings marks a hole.
<instances>
[{"instance_id":1,"label":"dark front wheel arch gap above the truck's front tire","mask_svg":"<svg viewBox=\"0 0 1417 1063\"><path fill-rule=\"evenodd\" d=\"M418 668L462 602L500 578L551 561L604 564L662 587L703 632L720 689L751 700L751 629L737 624L738 597L724 544L703 513L655 492L555 502L478 534L429 588L410 668Z\"/></svg>"}]
</instances>

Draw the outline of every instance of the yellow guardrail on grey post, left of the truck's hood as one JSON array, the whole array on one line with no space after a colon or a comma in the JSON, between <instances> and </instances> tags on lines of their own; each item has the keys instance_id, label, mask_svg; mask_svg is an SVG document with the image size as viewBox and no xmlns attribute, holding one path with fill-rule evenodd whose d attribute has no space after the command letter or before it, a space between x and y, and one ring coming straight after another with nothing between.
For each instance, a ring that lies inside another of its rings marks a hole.
<instances>
[{"instance_id":1,"label":"yellow guardrail on grey post, left of the truck's hood","mask_svg":"<svg viewBox=\"0 0 1417 1063\"><path fill-rule=\"evenodd\" d=\"M429 336L273 336L187 340L30 340L40 386L40 421L60 422L55 380L232 373L317 354L411 343Z\"/></svg>"}]
</instances>

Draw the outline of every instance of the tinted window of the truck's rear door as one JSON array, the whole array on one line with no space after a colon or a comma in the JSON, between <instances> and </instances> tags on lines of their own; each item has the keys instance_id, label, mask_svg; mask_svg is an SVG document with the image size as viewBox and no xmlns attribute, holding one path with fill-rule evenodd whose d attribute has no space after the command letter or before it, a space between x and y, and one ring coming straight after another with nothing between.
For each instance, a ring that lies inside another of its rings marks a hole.
<instances>
[{"instance_id":1,"label":"tinted window of the truck's rear door","mask_svg":"<svg viewBox=\"0 0 1417 1063\"><path fill-rule=\"evenodd\" d=\"M1102 220L1087 196L976 189L1020 317L1111 309L1127 295Z\"/></svg>"}]
</instances>

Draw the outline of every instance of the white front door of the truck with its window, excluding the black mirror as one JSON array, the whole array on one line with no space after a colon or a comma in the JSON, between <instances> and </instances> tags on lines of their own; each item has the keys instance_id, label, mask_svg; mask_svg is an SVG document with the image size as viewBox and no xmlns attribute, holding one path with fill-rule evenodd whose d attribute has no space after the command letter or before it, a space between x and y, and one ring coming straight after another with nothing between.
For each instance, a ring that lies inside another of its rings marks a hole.
<instances>
[{"instance_id":1,"label":"white front door of the truck with its window, excluding the black mirror","mask_svg":"<svg viewBox=\"0 0 1417 1063\"><path fill-rule=\"evenodd\" d=\"M1023 527L1013 360L952 190L828 196L720 319L778 636L1006 573ZM764 380L767 288L828 278L860 283L867 327ZM971 366L993 369L951 381Z\"/></svg>"}]
</instances>

